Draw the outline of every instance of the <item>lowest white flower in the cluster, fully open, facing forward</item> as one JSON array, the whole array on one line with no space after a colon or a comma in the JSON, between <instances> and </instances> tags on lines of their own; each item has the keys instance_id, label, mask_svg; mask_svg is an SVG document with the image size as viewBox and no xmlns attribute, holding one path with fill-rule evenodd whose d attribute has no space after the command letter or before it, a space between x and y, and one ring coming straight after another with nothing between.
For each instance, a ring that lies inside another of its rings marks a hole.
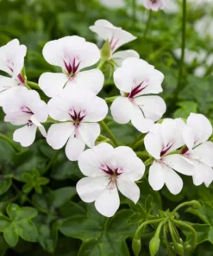
<instances>
[{"instance_id":1,"label":"lowest white flower in the cluster, fully open, facing forward","mask_svg":"<svg viewBox=\"0 0 213 256\"><path fill-rule=\"evenodd\" d=\"M135 181L141 179L145 166L132 149L98 144L81 154L78 166L87 176L77 183L78 195L84 202L95 201L100 214L111 217L116 213L120 205L118 190L138 202L140 189Z\"/></svg>"}]
</instances>

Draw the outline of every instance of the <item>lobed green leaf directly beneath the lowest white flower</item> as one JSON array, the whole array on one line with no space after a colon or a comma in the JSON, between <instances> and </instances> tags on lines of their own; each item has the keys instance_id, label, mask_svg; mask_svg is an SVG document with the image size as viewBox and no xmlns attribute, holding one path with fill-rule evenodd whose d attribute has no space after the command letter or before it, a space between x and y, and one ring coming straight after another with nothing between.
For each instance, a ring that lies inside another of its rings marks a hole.
<instances>
[{"instance_id":1,"label":"lobed green leaf directly beneath the lowest white flower","mask_svg":"<svg viewBox=\"0 0 213 256\"><path fill-rule=\"evenodd\" d=\"M121 210L110 220L87 206L86 216L71 217L60 227L66 236L83 240L79 255L128 255L125 240L135 233L136 226L128 224L131 210ZM107 252L107 254L106 254Z\"/></svg>"}]
</instances>

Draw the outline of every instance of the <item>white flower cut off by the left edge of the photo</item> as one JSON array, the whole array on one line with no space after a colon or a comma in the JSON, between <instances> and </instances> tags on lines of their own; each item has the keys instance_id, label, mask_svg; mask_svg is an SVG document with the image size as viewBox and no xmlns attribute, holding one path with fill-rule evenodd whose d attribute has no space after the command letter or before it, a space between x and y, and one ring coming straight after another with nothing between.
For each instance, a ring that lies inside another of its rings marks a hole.
<instances>
[{"instance_id":1,"label":"white flower cut off by the left edge of the photo","mask_svg":"<svg viewBox=\"0 0 213 256\"><path fill-rule=\"evenodd\" d=\"M0 75L0 106L3 106L5 99L16 90L17 86L25 85L25 78L22 77L21 72L26 53L26 46L20 45L17 39L0 48L0 70L10 76Z\"/></svg>"}]
</instances>

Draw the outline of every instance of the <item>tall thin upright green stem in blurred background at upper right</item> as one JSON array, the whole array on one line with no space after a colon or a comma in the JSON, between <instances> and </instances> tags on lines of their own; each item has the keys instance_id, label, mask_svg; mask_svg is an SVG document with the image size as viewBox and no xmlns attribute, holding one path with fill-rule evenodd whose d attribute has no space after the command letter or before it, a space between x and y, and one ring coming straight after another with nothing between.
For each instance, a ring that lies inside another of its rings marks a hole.
<instances>
[{"instance_id":1,"label":"tall thin upright green stem in blurred background at upper right","mask_svg":"<svg viewBox=\"0 0 213 256\"><path fill-rule=\"evenodd\" d=\"M174 91L174 96L175 99L178 98L179 93L184 87L184 68L185 68L185 27L186 27L186 1L183 0L183 16L182 16L182 43L181 43L181 57L180 57L180 62L179 62L179 81L178 81L178 86Z\"/></svg>"}]
</instances>

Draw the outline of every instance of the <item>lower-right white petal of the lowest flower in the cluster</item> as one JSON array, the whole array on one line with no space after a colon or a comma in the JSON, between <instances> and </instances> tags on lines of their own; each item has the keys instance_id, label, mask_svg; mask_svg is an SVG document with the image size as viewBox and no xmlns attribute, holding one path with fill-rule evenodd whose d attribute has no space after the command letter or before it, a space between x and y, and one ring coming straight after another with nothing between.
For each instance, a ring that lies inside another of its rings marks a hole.
<instances>
[{"instance_id":1,"label":"lower-right white petal of the lowest flower in the cluster","mask_svg":"<svg viewBox=\"0 0 213 256\"><path fill-rule=\"evenodd\" d=\"M117 179L117 187L122 195L128 197L131 201L137 203L140 197L140 189L135 182L127 178L121 177Z\"/></svg>"}]
</instances>

